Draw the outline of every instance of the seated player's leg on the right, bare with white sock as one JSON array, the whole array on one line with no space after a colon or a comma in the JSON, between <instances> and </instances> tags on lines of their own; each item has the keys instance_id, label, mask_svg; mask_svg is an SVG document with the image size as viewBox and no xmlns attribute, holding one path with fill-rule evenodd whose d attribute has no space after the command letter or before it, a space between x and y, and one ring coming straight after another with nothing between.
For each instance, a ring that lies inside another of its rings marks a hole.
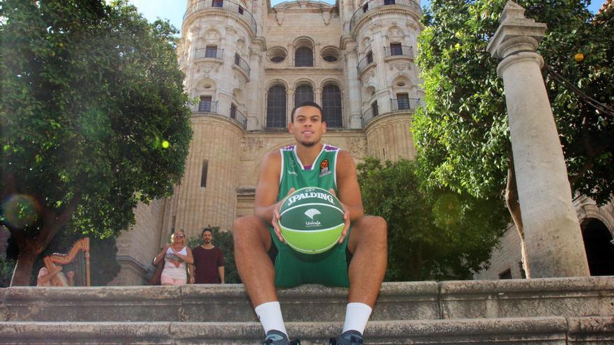
<instances>
[{"instance_id":1,"label":"seated player's leg on the right, bare with white sock","mask_svg":"<svg viewBox=\"0 0 614 345\"><path fill-rule=\"evenodd\" d=\"M350 263L350 296L345 323L337 344L362 344L362 333L380 293L388 258L387 224L382 217L365 216L352 223L347 249Z\"/></svg>"}]
</instances>

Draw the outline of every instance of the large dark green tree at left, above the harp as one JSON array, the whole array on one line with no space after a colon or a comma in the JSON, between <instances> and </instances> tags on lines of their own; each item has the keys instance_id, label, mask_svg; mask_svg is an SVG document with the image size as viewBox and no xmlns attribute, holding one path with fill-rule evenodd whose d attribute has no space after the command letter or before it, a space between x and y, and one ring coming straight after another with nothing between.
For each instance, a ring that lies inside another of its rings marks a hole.
<instances>
[{"instance_id":1,"label":"large dark green tree at left, above the harp","mask_svg":"<svg viewBox=\"0 0 614 345\"><path fill-rule=\"evenodd\" d=\"M172 193L191 139L169 23L125 1L0 6L1 222L13 285L58 231L117 236L133 208Z\"/></svg>"}]
</instances>

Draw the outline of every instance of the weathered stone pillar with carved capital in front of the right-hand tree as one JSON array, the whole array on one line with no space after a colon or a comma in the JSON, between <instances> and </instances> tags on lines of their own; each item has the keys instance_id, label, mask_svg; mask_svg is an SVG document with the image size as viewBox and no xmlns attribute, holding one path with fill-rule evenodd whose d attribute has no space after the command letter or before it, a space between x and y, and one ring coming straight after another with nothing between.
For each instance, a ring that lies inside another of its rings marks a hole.
<instances>
[{"instance_id":1,"label":"weathered stone pillar with carved capital in front of the right-hand tree","mask_svg":"<svg viewBox=\"0 0 614 345\"><path fill-rule=\"evenodd\" d=\"M488 52L502 59L518 198L531 277L590 275L580 224L537 53L546 24L508 1Z\"/></svg>"}]
</instances>

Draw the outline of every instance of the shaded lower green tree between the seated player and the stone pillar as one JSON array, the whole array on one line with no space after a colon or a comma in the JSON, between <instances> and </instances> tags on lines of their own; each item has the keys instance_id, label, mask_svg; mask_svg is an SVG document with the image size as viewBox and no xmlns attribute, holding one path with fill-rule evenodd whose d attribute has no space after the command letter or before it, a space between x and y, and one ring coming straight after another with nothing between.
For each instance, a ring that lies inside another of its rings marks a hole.
<instances>
[{"instance_id":1,"label":"shaded lower green tree between the seated player and the stone pillar","mask_svg":"<svg viewBox=\"0 0 614 345\"><path fill-rule=\"evenodd\" d=\"M358 165L365 212L388 222L387 280L469 279L488 266L507 222L497 199L421 190L416 162Z\"/></svg>"}]
</instances>

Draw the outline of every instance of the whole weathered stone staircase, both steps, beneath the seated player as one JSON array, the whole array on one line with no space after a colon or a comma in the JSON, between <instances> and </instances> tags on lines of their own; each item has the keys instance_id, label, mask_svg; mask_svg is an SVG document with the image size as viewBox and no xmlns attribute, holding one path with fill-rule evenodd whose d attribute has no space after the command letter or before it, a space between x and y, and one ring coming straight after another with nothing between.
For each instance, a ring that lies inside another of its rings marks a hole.
<instances>
[{"instance_id":1,"label":"whole weathered stone staircase, both steps, beneath the seated player","mask_svg":"<svg viewBox=\"0 0 614 345\"><path fill-rule=\"evenodd\" d=\"M346 289L279 292L291 337L328 344ZM257 344L242 285L0 290L0 344ZM614 344L614 277L384 283L367 344Z\"/></svg>"}]
</instances>

